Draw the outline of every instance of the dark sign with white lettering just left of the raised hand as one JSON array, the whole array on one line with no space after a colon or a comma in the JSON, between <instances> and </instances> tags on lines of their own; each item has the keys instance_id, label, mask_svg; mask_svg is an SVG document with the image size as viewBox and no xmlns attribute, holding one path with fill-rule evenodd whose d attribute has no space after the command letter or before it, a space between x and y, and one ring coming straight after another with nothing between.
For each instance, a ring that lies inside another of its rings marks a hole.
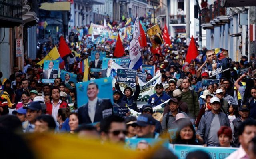
<instances>
[{"instance_id":1,"label":"dark sign with white lettering just left of the raised hand","mask_svg":"<svg viewBox=\"0 0 256 159\"><path fill-rule=\"evenodd\" d=\"M135 83L136 73L136 70L117 69L116 82Z\"/></svg>"}]
</instances>

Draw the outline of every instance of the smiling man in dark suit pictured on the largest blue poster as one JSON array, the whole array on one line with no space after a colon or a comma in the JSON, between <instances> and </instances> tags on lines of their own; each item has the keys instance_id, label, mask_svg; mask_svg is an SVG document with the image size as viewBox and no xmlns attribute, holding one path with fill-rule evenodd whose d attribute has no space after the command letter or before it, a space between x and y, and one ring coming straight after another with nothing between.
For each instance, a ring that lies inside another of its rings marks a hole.
<instances>
[{"instance_id":1,"label":"smiling man in dark suit pictured on the largest blue poster","mask_svg":"<svg viewBox=\"0 0 256 159\"><path fill-rule=\"evenodd\" d=\"M79 124L99 122L104 117L112 115L113 105L111 100L98 98L99 92L99 87L94 81L88 84L88 102L78 108Z\"/></svg>"}]
</instances>

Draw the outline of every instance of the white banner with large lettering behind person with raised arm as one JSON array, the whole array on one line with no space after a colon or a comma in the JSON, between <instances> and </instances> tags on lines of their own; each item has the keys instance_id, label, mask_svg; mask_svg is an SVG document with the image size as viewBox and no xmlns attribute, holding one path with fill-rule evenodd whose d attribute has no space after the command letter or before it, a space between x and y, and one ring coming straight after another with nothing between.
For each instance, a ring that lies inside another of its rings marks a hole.
<instances>
[{"instance_id":1,"label":"white banner with large lettering behind person with raised arm","mask_svg":"<svg viewBox=\"0 0 256 159\"><path fill-rule=\"evenodd\" d=\"M142 108L142 106L148 102L149 97L154 94L154 88L157 83L161 82L161 77L162 77L162 74L159 72L158 74L156 74L156 76L154 76L152 79L150 79L150 81L148 81L147 83L139 82L140 95L137 100L138 112L140 112L140 108ZM124 91L124 89L126 87L132 88L132 90L134 92L136 89L135 83L119 83L119 86L120 86L121 91Z\"/></svg>"}]
</instances>

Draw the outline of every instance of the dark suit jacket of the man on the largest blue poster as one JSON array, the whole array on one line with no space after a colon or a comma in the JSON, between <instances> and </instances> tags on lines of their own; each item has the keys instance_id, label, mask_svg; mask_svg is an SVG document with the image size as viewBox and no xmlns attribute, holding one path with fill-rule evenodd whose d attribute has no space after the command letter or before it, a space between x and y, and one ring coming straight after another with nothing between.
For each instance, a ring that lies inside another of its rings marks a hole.
<instances>
[{"instance_id":1,"label":"dark suit jacket of the man on the largest blue poster","mask_svg":"<svg viewBox=\"0 0 256 159\"><path fill-rule=\"evenodd\" d=\"M113 105L110 99L98 98L93 122L94 123L100 122L104 117L110 116L112 114L113 114ZM78 108L78 120L79 120L79 124L92 123L88 114L88 103Z\"/></svg>"}]
</instances>

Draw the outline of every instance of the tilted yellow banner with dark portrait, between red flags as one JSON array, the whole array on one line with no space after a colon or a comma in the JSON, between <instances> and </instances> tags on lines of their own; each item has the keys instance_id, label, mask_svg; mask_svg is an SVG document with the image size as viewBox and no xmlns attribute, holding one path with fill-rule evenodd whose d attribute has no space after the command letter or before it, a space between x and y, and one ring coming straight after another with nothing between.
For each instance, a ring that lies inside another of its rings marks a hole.
<instances>
[{"instance_id":1,"label":"tilted yellow banner with dark portrait, between red flags","mask_svg":"<svg viewBox=\"0 0 256 159\"><path fill-rule=\"evenodd\" d=\"M147 34L150 38L152 48L155 49L159 45L163 44L163 38L161 34L161 30L158 24L152 26L147 30Z\"/></svg>"}]
</instances>

